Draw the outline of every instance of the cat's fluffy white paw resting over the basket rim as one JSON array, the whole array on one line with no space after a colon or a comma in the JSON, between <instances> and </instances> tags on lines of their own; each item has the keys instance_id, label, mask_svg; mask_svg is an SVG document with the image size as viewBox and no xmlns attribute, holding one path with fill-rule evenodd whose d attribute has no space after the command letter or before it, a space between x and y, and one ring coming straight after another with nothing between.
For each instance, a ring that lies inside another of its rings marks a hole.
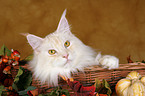
<instances>
[{"instance_id":1,"label":"cat's fluffy white paw resting over the basket rim","mask_svg":"<svg viewBox=\"0 0 145 96\"><path fill-rule=\"evenodd\" d=\"M100 55L100 54L99 54ZM115 56L110 56L110 55L104 55L104 56L99 56L100 58L97 58L99 65L103 68L107 69L115 69L119 67L119 59Z\"/></svg>"}]
</instances>

